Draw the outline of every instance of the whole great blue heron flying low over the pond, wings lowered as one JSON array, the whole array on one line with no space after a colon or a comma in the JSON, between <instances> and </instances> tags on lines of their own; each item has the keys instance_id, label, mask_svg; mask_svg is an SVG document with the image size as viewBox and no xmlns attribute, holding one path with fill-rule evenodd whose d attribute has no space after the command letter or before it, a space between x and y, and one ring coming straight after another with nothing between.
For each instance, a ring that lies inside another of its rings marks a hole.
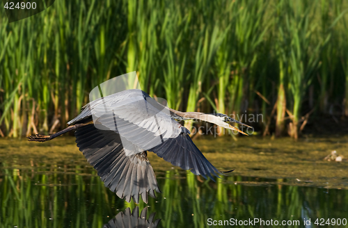
<instances>
[{"instance_id":1,"label":"whole great blue heron flying low over the pond, wings lowered","mask_svg":"<svg viewBox=\"0 0 348 228\"><path fill-rule=\"evenodd\" d=\"M148 193L155 198L155 190L161 192L147 152L205 179L209 176L214 180L212 174L219 177L218 174L224 173L207 161L192 142L190 131L176 121L191 119L244 133L228 124L243 124L228 115L175 111L142 90L124 90L86 104L81 113L68 122L70 127L51 136L37 134L28 139L45 142L76 130L77 147L97 170L104 185L127 202L133 197L138 203L141 195L147 203Z\"/></svg>"}]
</instances>

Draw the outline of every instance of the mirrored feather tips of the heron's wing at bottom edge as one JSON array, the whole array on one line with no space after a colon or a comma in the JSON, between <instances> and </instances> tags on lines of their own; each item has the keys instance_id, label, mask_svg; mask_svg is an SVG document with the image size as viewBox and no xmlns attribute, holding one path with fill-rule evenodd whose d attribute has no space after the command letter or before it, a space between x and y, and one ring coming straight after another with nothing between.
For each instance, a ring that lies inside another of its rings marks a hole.
<instances>
[{"instance_id":1,"label":"mirrored feather tips of the heron's wing at bottom edge","mask_svg":"<svg viewBox=\"0 0 348 228\"><path fill-rule=\"evenodd\" d=\"M139 216L139 207L136 206L133 209L133 212L131 213L131 209L128 207L125 209L125 213L122 211L116 215L115 218L110 220L108 224L104 225L103 227L107 228L156 228L159 224L159 221L161 219L155 220L155 214L152 213L149 216L149 219L146 220L148 213L148 207L145 207Z\"/></svg>"}]
</instances>

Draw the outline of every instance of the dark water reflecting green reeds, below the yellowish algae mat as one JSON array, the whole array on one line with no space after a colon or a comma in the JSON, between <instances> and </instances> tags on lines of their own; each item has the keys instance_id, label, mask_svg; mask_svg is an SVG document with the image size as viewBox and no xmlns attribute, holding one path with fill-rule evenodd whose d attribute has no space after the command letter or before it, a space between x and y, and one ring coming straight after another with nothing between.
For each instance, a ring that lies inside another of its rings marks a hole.
<instances>
[{"instance_id":1,"label":"dark water reflecting green reeds, below the yellowish algae mat","mask_svg":"<svg viewBox=\"0 0 348 228\"><path fill-rule=\"evenodd\" d=\"M87 163L47 163L47 154L42 163L36 162L40 156L6 160L9 152L0 147L0 227L114 227L122 220L124 227L132 222L155 227L157 219L158 227L348 227L348 190L240 175L214 182L175 168L155 168L162 193L138 209L105 188ZM145 207L142 217L145 211L147 219L155 213L150 222L138 218Z\"/></svg>"}]
</instances>

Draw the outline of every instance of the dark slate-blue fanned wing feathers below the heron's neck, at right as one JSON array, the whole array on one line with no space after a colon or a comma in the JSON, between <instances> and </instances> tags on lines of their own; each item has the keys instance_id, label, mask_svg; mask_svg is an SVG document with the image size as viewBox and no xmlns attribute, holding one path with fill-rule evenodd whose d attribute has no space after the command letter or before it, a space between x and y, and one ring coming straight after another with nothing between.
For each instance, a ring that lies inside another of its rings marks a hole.
<instances>
[{"instance_id":1,"label":"dark slate-blue fanned wing feathers below the heron's neck, at right","mask_svg":"<svg viewBox=\"0 0 348 228\"><path fill-rule=\"evenodd\" d=\"M208 175L214 180L211 174L214 174L216 177L219 177L218 174L223 174L209 163L207 158L192 142L190 136L184 133L184 131L177 138L170 138L161 145L149 149L149 151L154 152L157 156L164 158L164 160L175 166L179 166L184 170L190 170L193 174L202 175L205 179L207 179L206 176Z\"/></svg>"}]
</instances>

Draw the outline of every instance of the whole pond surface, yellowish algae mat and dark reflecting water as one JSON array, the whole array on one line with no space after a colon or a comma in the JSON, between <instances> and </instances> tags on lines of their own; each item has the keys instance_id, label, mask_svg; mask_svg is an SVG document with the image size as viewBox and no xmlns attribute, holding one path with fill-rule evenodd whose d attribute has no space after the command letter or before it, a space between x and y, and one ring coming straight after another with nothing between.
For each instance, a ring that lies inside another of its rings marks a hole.
<instances>
[{"instance_id":1,"label":"whole pond surface, yellowish algae mat and dark reflecting water","mask_svg":"<svg viewBox=\"0 0 348 228\"><path fill-rule=\"evenodd\" d=\"M225 225L217 227L272 227L266 224L271 221L306 227L303 221L308 225L309 220L318 227L317 219L324 220L322 227L348 227L342 225L348 220L347 161L323 160L331 150L347 158L348 138L195 142L217 168L234 168L232 175L205 180L149 155L162 193L137 209L104 187L74 138L1 139L1 227L107 227L115 218L131 218L127 210L135 218L145 207L147 219L152 213L153 222L161 219L158 227L214 227L219 221ZM325 224L328 219L331 225ZM240 220L244 225L238 225Z\"/></svg>"}]
</instances>

